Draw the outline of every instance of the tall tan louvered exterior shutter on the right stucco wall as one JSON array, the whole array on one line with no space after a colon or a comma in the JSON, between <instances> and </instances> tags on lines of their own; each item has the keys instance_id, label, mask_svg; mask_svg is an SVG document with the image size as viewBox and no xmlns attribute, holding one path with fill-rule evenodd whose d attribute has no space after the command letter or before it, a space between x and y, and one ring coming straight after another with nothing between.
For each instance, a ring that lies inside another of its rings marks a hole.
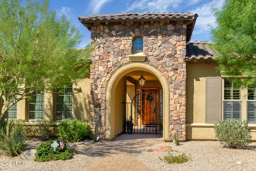
<instances>
[{"instance_id":1,"label":"tall tan louvered exterior shutter on the right stucco wall","mask_svg":"<svg viewBox=\"0 0 256 171\"><path fill-rule=\"evenodd\" d=\"M221 77L206 77L206 123L221 121Z\"/></svg>"}]
</instances>

